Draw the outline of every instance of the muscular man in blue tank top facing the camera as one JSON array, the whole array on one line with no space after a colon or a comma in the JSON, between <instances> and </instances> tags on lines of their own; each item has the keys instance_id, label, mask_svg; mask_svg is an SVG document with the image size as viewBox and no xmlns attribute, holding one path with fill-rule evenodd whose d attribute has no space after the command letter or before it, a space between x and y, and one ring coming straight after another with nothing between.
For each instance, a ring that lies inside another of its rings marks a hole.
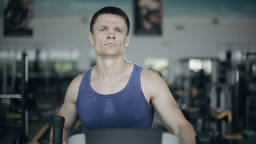
<instances>
[{"instance_id":1,"label":"muscular man in blue tank top facing the camera","mask_svg":"<svg viewBox=\"0 0 256 144\"><path fill-rule=\"evenodd\" d=\"M86 132L101 128L150 129L156 112L182 144L195 144L195 131L165 81L156 72L125 60L129 27L128 16L120 8L104 7L93 15L89 39L95 47L97 65L75 77L67 89L58 112L65 117L64 143L77 114Z\"/></svg>"}]
</instances>

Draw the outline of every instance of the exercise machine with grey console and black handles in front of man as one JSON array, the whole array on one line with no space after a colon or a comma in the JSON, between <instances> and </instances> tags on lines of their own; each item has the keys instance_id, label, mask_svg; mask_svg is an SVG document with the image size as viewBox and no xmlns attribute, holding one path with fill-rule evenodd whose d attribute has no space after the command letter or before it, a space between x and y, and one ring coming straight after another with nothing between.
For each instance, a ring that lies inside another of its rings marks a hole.
<instances>
[{"instance_id":1,"label":"exercise machine with grey console and black handles in front of man","mask_svg":"<svg viewBox=\"0 0 256 144\"><path fill-rule=\"evenodd\" d=\"M62 144L65 118L53 116L53 144ZM207 134L198 133L197 144L210 144ZM180 144L177 136L158 130L99 129L70 136L68 144Z\"/></svg>"}]
</instances>

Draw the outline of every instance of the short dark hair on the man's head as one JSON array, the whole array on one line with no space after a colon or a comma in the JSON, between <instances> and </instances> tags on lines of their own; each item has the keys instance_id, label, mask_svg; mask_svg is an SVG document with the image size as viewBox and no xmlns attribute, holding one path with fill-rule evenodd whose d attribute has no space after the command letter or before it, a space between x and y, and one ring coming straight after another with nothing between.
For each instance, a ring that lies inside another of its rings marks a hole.
<instances>
[{"instance_id":1,"label":"short dark hair on the man's head","mask_svg":"<svg viewBox=\"0 0 256 144\"><path fill-rule=\"evenodd\" d=\"M130 21L129 21L127 14L120 8L113 7L113 6L107 6L107 7L101 8L99 11L94 13L93 17L91 18L91 23L90 23L91 33L93 33L93 25L95 24L96 19L102 14L112 14L112 15L117 15L117 16L123 17L125 19L125 23L127 26L127 35L128 35L129 30L130 30Z\"/></svg>"}]
</instances>

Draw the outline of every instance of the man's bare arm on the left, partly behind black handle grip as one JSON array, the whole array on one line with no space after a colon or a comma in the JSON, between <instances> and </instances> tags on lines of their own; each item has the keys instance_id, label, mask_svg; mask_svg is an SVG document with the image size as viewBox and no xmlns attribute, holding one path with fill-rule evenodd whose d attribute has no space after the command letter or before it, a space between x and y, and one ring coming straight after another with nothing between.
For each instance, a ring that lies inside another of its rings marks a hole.
<instances>
[{"instance_id":1,"label":"man's bare arm on the left, partly behind black handle grip","mask_svg":"<svg viewBox=\"0 0 256 144\"><path fill-rule=\"evenodd\" d=\"M69 133L77 120L77 109L75 106L75 102L77 99L81 78L82 76L78 76L74 80L72 80L69 87L67 88L64 103L59 109L59 112L57 114L65 117L65 123L63 128L63 138L62 138L63 144L67 144ZM52 140L53 140L53 129L51 128L50 144L52 143Z\"/></svg>"}]
</instances>

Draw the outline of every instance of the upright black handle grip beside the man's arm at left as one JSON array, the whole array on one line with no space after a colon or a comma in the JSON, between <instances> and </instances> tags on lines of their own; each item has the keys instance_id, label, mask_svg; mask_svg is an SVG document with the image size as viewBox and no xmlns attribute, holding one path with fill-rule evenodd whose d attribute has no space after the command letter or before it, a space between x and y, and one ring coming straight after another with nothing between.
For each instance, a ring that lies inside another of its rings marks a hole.
<instances>
[{"instance_id":1,"label":"upright black handle grip beside the man's arm at left","mask_svg":"<svg viewBox=\"0 0 256 144\"><path fill-rule=\"evenodd\" d=\"M53 144L62 144L62 133L65 118L59 115L53 116Z\"/></svg>"}]
</instances>

